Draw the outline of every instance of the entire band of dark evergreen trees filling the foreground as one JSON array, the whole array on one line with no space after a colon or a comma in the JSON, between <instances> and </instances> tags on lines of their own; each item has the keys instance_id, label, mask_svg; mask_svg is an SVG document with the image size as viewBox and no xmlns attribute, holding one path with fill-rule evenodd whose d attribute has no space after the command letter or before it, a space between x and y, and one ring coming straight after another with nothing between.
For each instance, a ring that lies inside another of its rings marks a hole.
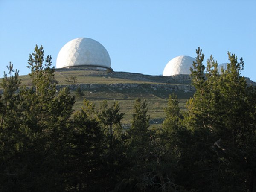
<instances>
[{"instance_id":1,"label":"entire band of dark evergreen trees filling the foreground","mask_svg":"<svg viewBox=\"0 0 256 192\"><path fill-rule=\"evenodd\" d=\"M186 111L170 95L158 129L140 99L128 130L117 102L96 108L84 99L73 113L74 97L56 89L43 47L29 55L31 87L19 87L10 63L0 94L0 191L255 191L256 88L236 55L228 52L219 74L212 56L205 67L196 52L196 92Z\"/></svg>"}]
</instances>

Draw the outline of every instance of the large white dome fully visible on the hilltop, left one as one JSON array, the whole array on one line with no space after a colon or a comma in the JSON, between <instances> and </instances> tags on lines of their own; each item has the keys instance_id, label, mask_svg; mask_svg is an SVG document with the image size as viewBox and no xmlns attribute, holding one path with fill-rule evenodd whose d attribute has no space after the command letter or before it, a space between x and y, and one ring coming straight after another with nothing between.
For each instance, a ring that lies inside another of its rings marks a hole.
<instances>
[{"instance_id":1,"label":"large white dome fully visible on the hilltop, left one","mask_svg":"<svg viewBox=\"0 0 256 192\"><path fill-rule=\"evenodd\" d=\"M56 68L95 66L111 67L107 50L98 41L76 38L65 44L58 53Z\"/></svg>"}]
</instances>

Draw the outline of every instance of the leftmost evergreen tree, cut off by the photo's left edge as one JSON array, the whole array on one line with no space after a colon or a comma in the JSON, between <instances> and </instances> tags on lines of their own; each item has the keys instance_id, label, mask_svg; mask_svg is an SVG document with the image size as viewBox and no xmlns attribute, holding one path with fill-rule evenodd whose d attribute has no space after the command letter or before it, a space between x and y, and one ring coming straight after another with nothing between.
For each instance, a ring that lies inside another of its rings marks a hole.
<instances>
[{"instance_id":1,"label":"leftmost evergreen tree, cut off by the photo's left edge","mask_svg":"<svg viewBox=\"0 0 256 192\"><path fill-rule=\"evenodd\" d=\"M18 110L20 79L17 70L12 74L11 62L7 68L9 72L4 72L0 94L0 191L18 191L17 178L22 173L15 158L23 146Z\"/></svg>"}]
</instances>

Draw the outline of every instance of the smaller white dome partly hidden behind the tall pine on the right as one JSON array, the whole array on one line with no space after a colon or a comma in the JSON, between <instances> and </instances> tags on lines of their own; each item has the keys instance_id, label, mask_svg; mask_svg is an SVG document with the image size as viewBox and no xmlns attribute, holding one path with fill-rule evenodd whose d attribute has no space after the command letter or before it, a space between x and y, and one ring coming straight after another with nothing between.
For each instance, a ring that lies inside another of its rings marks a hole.
<instances>
[{"instance_id":1,"label":"smaller white dome partly hidden behind the tall pine on the right","mask_svg":"<svg viewBox=\"0 0 256 192\"><path fill-rule=\"evenodd\" d=\"M190 74L190 67L193 67L193 61L195 59L189 56L177 56L166 64L163 70L163 76Z\"/></svg>"}]
</instances>

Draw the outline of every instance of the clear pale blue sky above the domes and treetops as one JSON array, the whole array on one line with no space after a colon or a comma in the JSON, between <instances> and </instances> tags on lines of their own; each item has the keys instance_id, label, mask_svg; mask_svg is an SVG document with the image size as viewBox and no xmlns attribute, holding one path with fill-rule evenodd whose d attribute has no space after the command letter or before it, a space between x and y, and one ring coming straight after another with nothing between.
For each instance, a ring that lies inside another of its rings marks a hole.
<instances>
[{"instance_id":1,"label":"clear pale blue sky above the domes and treetops","mask_svg":"<svg viewBox=\"0 0 256 192\"><path fill-rule=\"evenodd\" d=\"M68 41L99 41L114 71L162 75L176 56L244 60L256 81L256 0L0 0L0 76L11 61L20 75L35 45L56 58Z\"/></svg>"}]
</instances>

